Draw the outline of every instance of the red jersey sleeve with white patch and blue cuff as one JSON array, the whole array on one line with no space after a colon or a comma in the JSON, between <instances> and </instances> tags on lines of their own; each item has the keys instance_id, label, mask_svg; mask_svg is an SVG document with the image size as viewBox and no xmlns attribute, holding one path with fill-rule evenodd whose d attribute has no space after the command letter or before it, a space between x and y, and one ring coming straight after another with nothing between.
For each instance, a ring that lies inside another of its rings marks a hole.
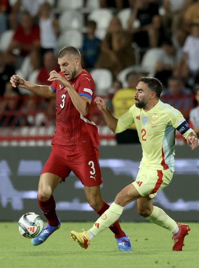
<instances>
[{"instance_id":1,"label":"red jersey sleeve with white patch and blue cuff","mask_svg":"<svg viewBox=\"0 0 199 268\"><path fill-rule=\"evenodd\" d=\"M78 87L78 94L91 100L93 99L93 96L95 94L95 87L92 77L84 76L82 78Z\"/></svg>"}]
</instances>

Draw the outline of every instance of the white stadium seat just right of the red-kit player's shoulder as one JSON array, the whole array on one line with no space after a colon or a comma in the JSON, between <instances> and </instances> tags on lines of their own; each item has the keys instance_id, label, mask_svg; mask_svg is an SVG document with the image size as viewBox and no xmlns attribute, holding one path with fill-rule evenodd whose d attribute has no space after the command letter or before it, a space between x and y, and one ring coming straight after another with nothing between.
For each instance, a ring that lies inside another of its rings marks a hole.
<instances>
[{"instance_id":1,"label":"white stadium seat just right of the red-kit player's shoulder","mask_svg":"<svg viewBox=\"0 0 199 268\"><path fill-rule=\"evenodd\" d=\"M95 82L95 95L106 96L112 87L112 74L107 69L94 69L90 72Z\"/></svg>"}]
</instances>

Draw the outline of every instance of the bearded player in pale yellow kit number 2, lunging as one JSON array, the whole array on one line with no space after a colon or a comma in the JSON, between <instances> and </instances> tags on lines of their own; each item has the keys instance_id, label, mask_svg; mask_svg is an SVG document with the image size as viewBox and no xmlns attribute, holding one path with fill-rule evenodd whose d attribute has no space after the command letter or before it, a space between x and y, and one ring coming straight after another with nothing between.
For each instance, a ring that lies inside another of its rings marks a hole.
<instances>
[{"instance_id":1,"label":"bearded player in pale yellow kit number 2, lunging","mask_svg":"<svg viewBox=\"0 0 199 268\"><path fill-rule=\"evenodd\" d=\"M135 104L118 119L112 116L103 99L95 99L106 124L113 132L120 133L135 122L143 150L136 181L117 194L112 205L91 229L83 229L82 233L71 231L71 237L86 249L96 235L118 220L128 203L137 200L138 213L150 222L168 229L173 235L173 251L182 251L189 226L178 224L162 209L153 206L153 197L169 184L173 176L175 129L187 139L192 150L198 146L197 135L181 112L160 101L162 84L158 79L141 77L136 90Z\"/></svg>"}]
</instances>

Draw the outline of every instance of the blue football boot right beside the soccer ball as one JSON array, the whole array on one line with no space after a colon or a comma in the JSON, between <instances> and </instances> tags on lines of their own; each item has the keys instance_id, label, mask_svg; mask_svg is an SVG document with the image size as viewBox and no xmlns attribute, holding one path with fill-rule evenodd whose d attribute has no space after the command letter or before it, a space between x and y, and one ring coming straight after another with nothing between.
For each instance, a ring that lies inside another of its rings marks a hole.
<instances>
[{"instance_id":1,"label":"blue football boot right beside the soccer ball","mask_svg":"<svg viewBox=\"0 0 199 268\"><path fill-rule=\"evenodd\" d=\"M59 218L58 218L57 226L50 226L49 224L47 224L37 237L31 239L31 243L33 244L33 246L38 246L42 244L43 242L45 242L46 239L50 235L52 235L53 232L55 232L56 230L60 228L60 225L61 225L61 222Z\"/></svg>"}]
</instances>

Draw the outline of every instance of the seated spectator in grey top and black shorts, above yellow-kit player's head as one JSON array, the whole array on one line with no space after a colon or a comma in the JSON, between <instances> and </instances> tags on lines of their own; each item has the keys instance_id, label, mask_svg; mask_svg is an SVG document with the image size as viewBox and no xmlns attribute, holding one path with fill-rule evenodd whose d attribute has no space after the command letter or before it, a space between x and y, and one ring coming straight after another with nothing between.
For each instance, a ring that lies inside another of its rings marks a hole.
<instances>
[{"instance_id":1,"label":"seated spectator in grey top and black shorts, above yellow-kit player's head","mask_svg":"<svg viewBox=\"0 0 199 268\"><path fill-rule=\"evenodd\" d=\"M167 87L167 80L172 76L175 65L175 48L170 40L164 41L162 44L162 52L156 63L155 77L159 79L165 87Z\"/></svg>"}]
</instances>

